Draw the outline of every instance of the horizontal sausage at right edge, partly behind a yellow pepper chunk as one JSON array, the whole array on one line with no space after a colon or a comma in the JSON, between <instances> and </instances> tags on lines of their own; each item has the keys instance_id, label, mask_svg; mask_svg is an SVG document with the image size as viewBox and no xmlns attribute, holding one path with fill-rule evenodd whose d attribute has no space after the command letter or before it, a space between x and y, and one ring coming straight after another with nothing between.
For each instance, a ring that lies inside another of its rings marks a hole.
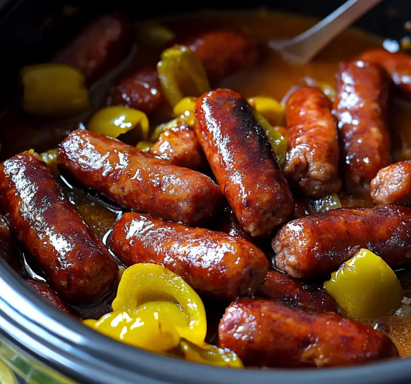
<instances>
[{"instance_id":1,"label":"horizontal sausage at right edge, partly behind a yellow pepper chunk","mask_svg":"<svg viewBox=\"0 0 411 384\"><path fill-rule=\"evenodd\" d=\"M361 248L391 268L411 264L411 208L339 208L293 220L272 240L275 266L296 278L327 275Z\"/></svg>"}]
</instances>

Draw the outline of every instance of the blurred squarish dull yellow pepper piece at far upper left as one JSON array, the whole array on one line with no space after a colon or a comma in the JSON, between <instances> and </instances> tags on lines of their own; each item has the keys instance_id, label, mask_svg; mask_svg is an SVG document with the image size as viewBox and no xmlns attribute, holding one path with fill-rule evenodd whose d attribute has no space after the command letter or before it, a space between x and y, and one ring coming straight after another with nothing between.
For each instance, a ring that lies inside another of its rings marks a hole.
<instances>
[{"instance_id":1,"label":"blurred squarish dull yellow pepper piece at far upper left","mask_svg":"<svg viewBox=\"0 0 411 384\"><path fill-rule=\"evenodd\" d=\"M32 115L72 116L90 105L83 74L69 65L28 65L20 76L24 87L23 107Z\"/></svg>"}]
</instances>

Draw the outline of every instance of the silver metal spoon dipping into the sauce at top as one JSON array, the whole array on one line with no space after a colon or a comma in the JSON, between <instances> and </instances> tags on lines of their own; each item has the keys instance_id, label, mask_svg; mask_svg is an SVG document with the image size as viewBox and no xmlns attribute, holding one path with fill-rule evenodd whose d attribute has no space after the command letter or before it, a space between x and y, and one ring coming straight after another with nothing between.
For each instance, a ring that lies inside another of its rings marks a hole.
<instances>
[{"instance_id":1,"label":"silver metal spoon dipping into the sauce at top","mask_svg":"<svg viewBox=\"0 0 411 384\"><path fill-rule=\"evenodd\" d=\"M381 0L348 0L300 35L282 42L270 42L270 46L282 51L286 58L300 63L308 62L332 39L379 2Z\"/></svg>"}]
</instances>

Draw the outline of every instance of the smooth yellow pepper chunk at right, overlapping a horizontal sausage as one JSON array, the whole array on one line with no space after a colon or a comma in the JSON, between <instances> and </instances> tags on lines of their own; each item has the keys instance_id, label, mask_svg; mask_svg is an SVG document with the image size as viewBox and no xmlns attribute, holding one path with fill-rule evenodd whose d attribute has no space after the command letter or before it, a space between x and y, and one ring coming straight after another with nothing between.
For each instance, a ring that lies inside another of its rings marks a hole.
<instances>
[{"instance_id":1,"label":"smooth yellow pepper chunk at right, overlapping a horizontal sausage","mask_svg":"<svg viewBox=\"0 0 411 384\"><path fill-rule=\"evenodd\" d=\"M346 261L330 280L326 291L355 319L371 319L398 308L402 287L386 262L369 250L361 249Z\"/></svg>"}]
</instances>

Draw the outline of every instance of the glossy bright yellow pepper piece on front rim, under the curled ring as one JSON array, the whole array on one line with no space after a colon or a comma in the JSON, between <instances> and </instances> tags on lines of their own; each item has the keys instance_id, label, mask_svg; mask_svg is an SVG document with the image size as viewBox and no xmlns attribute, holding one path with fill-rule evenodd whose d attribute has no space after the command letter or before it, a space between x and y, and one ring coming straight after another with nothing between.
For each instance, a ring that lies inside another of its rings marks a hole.
<instances>
[{"instance_id":1,"label":"glossy bright yellow pepper piece on front rim, under the curled ring","mask_svg":"<svg viewBox=\"0 0 411 384\"><path fill-rule=\"evenodd\" d=\"M165 352L180 341L175 327L161 312L140 311L129 315L125 311L107 313L99 320L84 320L83 324L115 340L152 352Z\"/></svg>"}]
</instances>

